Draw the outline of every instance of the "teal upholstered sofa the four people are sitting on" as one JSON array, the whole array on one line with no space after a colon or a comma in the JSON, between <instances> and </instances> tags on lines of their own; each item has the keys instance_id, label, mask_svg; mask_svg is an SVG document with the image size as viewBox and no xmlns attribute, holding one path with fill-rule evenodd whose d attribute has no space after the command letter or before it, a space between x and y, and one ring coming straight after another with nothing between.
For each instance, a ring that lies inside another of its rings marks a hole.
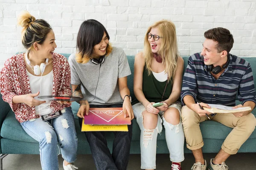
<instances>
[{"instance_id":1,"label":"teal upholstered sofa the four people are sitting on","mask_svg":"<svg viewBox=\"0 0 256 170\"><path fill-rule=\"evenodd\" d=\"M63 54L65 57L69 57L70 54ZM132 99L135 99L133 91L133 75L134 75L134 56L128 56L128 62L131 68L131 75L128 76L128 88L131 92ZM189 57L183 57L184 59L184 71L187 66L187 60ZM254 85L256 85L256 57L244 57L253 69ZM239 101L237 101L239 103ZM39 144L35 139L32 139L21 127L20 123L15 119L15 115L9 104L3 102L2 96L0 96L0 170L2 170L2 159L8 154L39 154ZM76 102L72 103L72 110L75 115L76 133L78 137L78 151L77 154L90 154L90 147L87 143L87 139L79 126L78 117L76 113L79 105ZM256 115L256 111L253 111ZM218 122L205 121L200 123L201 132L204 139L204 153L217 153L221 148L221 144L224 142L226 136L230 133L232 128L226 127ZM108 147L112 150L113 133L106 133L108 141ZM157 137L157 153L169 153L165 141L165 131ZM57 152L57 151L56 151ZM191 153L190 150L184 145L184 152ZM256 153L256 130L252 133L250 138L241 146L239 152L253 152ZM140 154L140 128L133 120L133 136L131 142L132 154Z\"/></svg>"}]
</instances>

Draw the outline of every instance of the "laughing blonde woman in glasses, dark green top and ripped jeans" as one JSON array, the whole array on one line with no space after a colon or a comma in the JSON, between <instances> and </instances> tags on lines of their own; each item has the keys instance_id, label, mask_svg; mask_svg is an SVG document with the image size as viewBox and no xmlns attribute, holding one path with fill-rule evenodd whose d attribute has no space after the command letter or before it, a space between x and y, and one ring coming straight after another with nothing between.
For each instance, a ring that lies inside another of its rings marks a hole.
<instances>
[{"instance_id":1,"label":"laughing blonde woman in glasses, dark green top and ripped jeans","mask_svg":"<svg viewBox=\"0 0 256 170\"><path fill-rule=\"evenodd\" d=\"M172 170L181 170L184 133L178 99L183 64L178 56L175 25L161 20L150 26L144 51L135 56L134 62L134 94L138 101L133 110L141 130L141 169L156 168L157 133L161 133L163 122Z\"/></svg>"}]
</instances>

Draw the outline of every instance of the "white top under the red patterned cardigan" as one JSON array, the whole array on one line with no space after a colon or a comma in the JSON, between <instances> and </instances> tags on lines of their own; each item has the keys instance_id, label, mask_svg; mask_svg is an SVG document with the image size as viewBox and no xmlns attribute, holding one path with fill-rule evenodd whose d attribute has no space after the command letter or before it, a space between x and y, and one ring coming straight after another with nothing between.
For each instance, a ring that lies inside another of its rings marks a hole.
<instances>
[{"instance_id":1,"label":"white top under the red patterned cardigan","mask_svg":"<svg viewBox=\"0 0 256 170\"><path fill-rule=\"evenodd\" d=\"M32 91L32 94L40 92L38 96L51 96L52 95L52 87L53 87L53 72L51 71L49 74L44 76L34 76L29 73L29 71L26 71L29 77L29 84ZM40 83L41 83L41 90L40 90ZM34 99L37 100L43 100L39 99L38 96L36 96ZM45 100L46 102L35 106L35 114L36 115L45 115L52 113L54 109L50 108L51 100Z\"/></svg>"}]
</instances>

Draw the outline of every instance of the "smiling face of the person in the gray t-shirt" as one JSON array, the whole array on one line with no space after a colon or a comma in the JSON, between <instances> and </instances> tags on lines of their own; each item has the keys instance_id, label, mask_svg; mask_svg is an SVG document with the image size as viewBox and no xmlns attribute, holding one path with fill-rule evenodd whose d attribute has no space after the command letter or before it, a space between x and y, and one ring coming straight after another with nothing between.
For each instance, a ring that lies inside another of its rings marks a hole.
<instances>
[{"instance_id":1,"label":"smiling face of the person in the gray t-shirt","mask_svg":"<svg viewBox=\"0 0 256 170\"><path fill-rule=\"evenodd\" d=\"M107 34L104 32L102 40L99 44L93 46L93 57L98 58L100 56L104 56L106 54L106 48L108 45L108 37Z\"/></svg>"}]
</instances>

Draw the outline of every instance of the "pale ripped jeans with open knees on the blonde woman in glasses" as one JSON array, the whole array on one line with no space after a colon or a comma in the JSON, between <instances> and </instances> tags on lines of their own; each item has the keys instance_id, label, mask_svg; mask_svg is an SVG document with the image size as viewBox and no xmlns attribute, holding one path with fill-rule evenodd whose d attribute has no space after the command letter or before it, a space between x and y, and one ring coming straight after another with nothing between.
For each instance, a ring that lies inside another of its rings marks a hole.
<instances>
[{"instance_id":1,"label":"pale ripped jeans with open knees on the blonde woman in glasses","mask_svg":"<svg viewBox=\"0 0 256 170\"><path fill-rule=\"evenodd\" d=\"M177 108L180 112L181 104L175 102L169 108ZM184 160L184 132L180 119L179 124L172 125L166 122L163 117L164 112L160 111L157 116L157 127L154 130L145 129L143 126L143 111L145 107L141 103L132 106L134 116L140 126L140 153L141 153L141 169L156 169L156 153L157 153L157 133L162 132L162 123L165 127L166 143L170 153L172 162L181 162ZM161 116L161 117L160 117Z\"/></svg>"}]
</instances>

